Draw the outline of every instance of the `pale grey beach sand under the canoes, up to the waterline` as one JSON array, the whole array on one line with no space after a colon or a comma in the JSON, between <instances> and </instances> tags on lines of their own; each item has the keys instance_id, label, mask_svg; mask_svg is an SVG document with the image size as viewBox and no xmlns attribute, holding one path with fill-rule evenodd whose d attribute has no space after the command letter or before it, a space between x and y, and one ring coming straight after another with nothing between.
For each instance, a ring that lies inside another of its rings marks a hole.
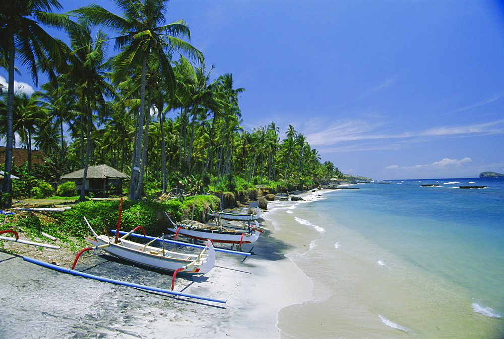
<instances>
[{"instance_id":1,"label":"pale grey beach sand under the canoes, up to the waterline","mask_svg":"<svg viewBox=\"0 0 504 339\"><path fill-rule=\"evenodd\" d=\"M265 212L268 213L268 212ZM285 257L292 248L266 232L244 244L253 256L217 252L203 277L175 291L227 300L175 297L59 273L0 252L0 337L279 337L278 311L311 298L311 280ZM170 289L171 276L118 262L100 251L76 270Z\"/></svg>"}]
</instances>

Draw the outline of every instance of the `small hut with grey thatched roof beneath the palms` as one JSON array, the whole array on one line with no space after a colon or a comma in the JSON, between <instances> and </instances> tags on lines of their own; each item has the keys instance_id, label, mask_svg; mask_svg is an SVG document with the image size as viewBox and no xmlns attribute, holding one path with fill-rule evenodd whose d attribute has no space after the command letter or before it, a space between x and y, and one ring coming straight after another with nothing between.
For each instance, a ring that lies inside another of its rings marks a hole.
<instances>
[{"instance_id":1,"label":"small hut with grey thatched roof beneath the palms","mask_svg":"<svg viewBox=\"0 0 504 339\"><path fill-rule=\"evenodd\" d=\"M59 179L62 182L74 181L77 190L80 191L83 186L83 175L84 169L66 174ZM130 179L130 177L107 165L89 166L84 189L87 194L93 193L105 196L110 193L122 194L122 179Z\"/></svg>"}]
</instances>

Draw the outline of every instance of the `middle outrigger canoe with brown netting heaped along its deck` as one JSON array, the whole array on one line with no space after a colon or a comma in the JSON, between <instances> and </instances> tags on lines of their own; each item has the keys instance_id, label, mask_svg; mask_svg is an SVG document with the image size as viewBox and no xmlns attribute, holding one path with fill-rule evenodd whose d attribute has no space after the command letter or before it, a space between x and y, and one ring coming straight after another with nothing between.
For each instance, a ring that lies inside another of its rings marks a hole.
<instances>
[{"instance_id":1,"label":"middle outrigger canoe with brown netting heaped along its deck","mask_svg":"<svg viewBox=\"0 0 504 339\"><path fill-rule=\"evenodd\" d=\"M182 234L193 239L210 239L214 242L238 244L241 247L243 243L255 242L259 238L259 233L262 232L259 229L257 221L255 221L256 227L245 225L243 228L237 229L223 226L211 226L190 220L184 220L175 224L168 214L166 214L166 216L171 222L171 226L167 228L170 232L175 233L175 237L178 234Z\"/></svg>"}]
</instances>

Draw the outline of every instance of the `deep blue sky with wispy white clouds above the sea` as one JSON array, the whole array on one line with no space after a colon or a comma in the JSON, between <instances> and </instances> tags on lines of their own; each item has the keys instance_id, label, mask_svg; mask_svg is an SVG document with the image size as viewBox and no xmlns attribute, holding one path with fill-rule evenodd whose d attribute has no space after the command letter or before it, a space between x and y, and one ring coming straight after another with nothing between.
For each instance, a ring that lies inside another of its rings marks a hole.
<instances>
[{"instance_id":1,"label":"deep blue sky with wispy white clouds above the sea","mask_svg":"<svg viewBox=\"0 0 504 339\"><path fill-rule=\"evenodd\" d=\"M214 76L232 73L246 89L245 128L274 121L284 137L292 124L345 174L462 178L504 173L502 9L489 1L172 0L167 21L184 19Z\"/></svg>"}]
</instances>

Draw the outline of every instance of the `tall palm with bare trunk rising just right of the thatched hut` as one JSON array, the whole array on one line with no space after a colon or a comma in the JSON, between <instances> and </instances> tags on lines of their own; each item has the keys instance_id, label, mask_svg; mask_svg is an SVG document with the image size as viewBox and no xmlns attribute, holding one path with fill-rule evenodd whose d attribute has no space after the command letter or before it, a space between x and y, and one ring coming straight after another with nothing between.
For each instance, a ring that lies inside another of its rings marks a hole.
<instances>
[{"instance_id":1,"label":"tall palm with bare trunk rising just right of the thatched hut","mask_svg":"<svg viewBox=\"0 0 504 339\"><path fill-rule=\"evenodd\" d=\"M123 11L123 17L105 10L99 5L78 8L72 13L82 16L95 25L106 25L116 30L115 47L121 49L114 59L115 72L112 81L126 78L132 68L141 65L140 107L138 113L137 141L134 147L129 199L135 199L140 173L140 152L145 112L145 89L150 55L155 55L160 64L163 78L174 86L175 77L170 64L171 53L183 52L190 57L203 60L203 55L179 37L190 38L190 31L183 20L168 25L165 22L166 0L113 0ZM167 51L170 51L167 53Z\"/></svg>"}]
</instances>

